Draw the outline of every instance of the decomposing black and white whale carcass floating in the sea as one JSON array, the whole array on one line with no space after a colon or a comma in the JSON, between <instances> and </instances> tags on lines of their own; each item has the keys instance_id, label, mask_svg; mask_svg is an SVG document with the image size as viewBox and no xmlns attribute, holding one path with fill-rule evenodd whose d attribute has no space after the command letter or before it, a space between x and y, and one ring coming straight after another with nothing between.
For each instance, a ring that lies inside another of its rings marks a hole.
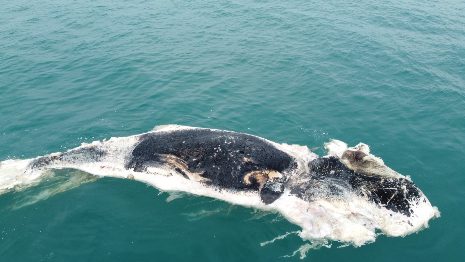
<instances>
[{"instance_id":1,"label":"decomposing black and white whale carcass floating in the sea","mask_svg":"<svg viewBox=\"0 0 465 262\"><path fill-rule=\"evenodd\" d=\"M387 167L367 145L348 148L332 140L325 147L328 155L319 158L306 146L165 125L64 153L0 162L0 193L33 185L47 170L74 168L279 212L302 228L299 236L312 247L328 241L360 246L378 234L405 236L439 216L409 177Z\"/></svg>"}]
</instances>

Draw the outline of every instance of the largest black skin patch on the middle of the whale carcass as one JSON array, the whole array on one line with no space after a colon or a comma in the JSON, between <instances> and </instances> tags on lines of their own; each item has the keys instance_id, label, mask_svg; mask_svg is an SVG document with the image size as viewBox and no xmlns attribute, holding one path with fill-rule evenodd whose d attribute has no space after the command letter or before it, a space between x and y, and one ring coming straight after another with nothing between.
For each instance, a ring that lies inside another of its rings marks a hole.
<instances>
[{"instance_id":1,"label":"largest black skin patch on the middle of the whale carcass","mask_svg":"<svg viewBox=\"0 0 465 262\"><path fill-rule=\"evenodd\" d=\"M273 187L273 191L266 181L260 184L251 179L251 183L246 184L244 176L251 171L275 171L282 177L272 181L281 183L286 181L288 172L297 167L294 158L266 140L238 132L186 129L147 133L139 139L140 143L128 159L127 169L142 172L147 163L166 164L160 155L173 155L186 162L190 173L205 178L203 183L216 188L259 191L263 187L262 201L266 204L278 199L284 186L278 186L282 190ZM188 178L186 172L176 171Z\"/></svg>"}]
</instances>

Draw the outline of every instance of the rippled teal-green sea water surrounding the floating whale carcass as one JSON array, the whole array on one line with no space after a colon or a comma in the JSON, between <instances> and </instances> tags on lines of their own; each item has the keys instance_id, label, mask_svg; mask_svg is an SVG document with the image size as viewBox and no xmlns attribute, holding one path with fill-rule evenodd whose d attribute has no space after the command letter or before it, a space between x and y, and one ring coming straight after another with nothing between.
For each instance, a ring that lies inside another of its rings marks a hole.
<instances>
[{"instance_id":1,"label":"rippled teal-green sea water surrounding the floating whale carcass","mask_svg":"<svg viewBox=\"0 0 465 262\"><path fill-rule=\"evenodd\" d=\"M305 260L463 261L464 116L463 1L0 0L0 160L160 124L335 138L370 145L441 212ZM300 261L282 256L308 243L262 247L299 227L127 179L25 205L50 183L0 196L1 262Z\"/></svg>"}]
</instances>

